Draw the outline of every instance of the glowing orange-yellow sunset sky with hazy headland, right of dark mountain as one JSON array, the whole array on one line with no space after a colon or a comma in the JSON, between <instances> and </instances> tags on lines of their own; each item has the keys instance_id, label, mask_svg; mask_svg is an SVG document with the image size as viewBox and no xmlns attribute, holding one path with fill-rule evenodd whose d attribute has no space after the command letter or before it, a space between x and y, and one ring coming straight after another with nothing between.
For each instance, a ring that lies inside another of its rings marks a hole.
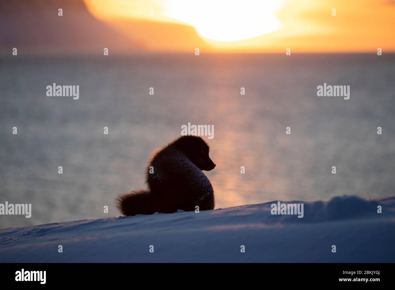
<instances>
[{"instance_id":1,"label":"glowing orange-yellow sunset sky with hazy headland, right of dark mountain","mask_svg":"<svg viewBox=\"0 0 395 290\"><path fill-rule=\"evenodd\" d=\"M395 52L395 0L85 0L146 51ZM336 16L332 16L332 9Z\"/></svg>"}]
</instances>

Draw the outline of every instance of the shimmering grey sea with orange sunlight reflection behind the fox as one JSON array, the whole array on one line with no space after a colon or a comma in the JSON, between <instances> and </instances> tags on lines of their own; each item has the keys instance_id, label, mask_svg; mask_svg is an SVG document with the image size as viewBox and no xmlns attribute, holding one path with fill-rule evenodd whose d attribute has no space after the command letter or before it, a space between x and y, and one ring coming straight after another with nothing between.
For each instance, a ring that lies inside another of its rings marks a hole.
<instances>
[{"instance_id":1,"label":"shimmering grey sea with orange sunlight reflection behind the fox","mask_svg":"<svg viewBox=\"0 0 395 290\"><path fill-rule=\"evenodd\" d=\"M394 55L10 55L0 75L0 203L32 204L0 228L119 215L188 122L214 125L216 208L394 194ZM54 82L79 99L47 97ZM317 97L324 82L350 99Z\"/></svg>"}]
</instances>

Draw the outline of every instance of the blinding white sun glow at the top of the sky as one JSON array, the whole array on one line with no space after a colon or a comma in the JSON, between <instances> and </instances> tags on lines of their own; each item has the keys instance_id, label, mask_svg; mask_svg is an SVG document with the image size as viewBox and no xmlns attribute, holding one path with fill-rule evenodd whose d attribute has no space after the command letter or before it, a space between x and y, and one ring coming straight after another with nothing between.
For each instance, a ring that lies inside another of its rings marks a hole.
<instances>
[{"instance_id":1,"label":"blinding white sun glow at the top of the sky","mask_svg":"<svg viewBox=\"0 0 395 290\"><path fill-rule=\"evenodd\" d=\"M285 0L169 0L162 15L192 25L198 33L215 41L240 41L280 28L276 13Z\"/></svg>"}]
</instances>

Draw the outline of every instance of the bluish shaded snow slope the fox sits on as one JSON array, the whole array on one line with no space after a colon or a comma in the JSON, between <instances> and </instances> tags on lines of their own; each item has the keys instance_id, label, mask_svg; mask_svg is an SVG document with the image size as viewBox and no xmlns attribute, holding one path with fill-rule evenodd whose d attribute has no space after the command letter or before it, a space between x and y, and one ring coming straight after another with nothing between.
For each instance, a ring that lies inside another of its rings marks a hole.
<instances>
[{"instance_id":1,"label":"bluish shaded snow slope the fox sits on","mask_svg":"<svg viewBox=\"0 0 395 290\"><path fill-rule=\"evenodd\" d=\"M0 262L395 262L395 196L273 203L6 228Z\"/></svg>"}]
</instances>

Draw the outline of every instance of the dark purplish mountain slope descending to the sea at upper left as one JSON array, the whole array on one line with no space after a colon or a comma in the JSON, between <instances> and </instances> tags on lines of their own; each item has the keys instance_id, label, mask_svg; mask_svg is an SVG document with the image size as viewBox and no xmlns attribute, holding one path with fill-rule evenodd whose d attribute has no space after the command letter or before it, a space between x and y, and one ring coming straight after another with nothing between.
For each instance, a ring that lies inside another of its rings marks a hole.
<instances>
[{"instance_id":1,"label":"dark purplish mountain slope descending to the sea at upper left","mask_svg":"<svg viewBox=\"0 0 395 290\"><path fill-rule=\"evenodd\" d=\"M63 16L58 16L58 9ZM134 51L141 45L93 17L82 0L0 0L0 50ZM21 49L21 50L20 50Z\"/></svg>"}]
</instances>

